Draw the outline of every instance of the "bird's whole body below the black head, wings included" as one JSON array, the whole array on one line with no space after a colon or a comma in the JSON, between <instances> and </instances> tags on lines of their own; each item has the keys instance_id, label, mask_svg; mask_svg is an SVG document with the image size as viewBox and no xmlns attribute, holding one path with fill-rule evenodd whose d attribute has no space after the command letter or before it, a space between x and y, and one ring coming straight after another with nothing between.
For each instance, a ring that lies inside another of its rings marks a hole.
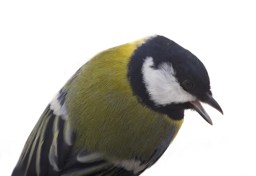
<instances>
[{"instance_id":1,"label":"bird's whole body below the black head, wings included","mask_svg":"<svg viewBox=\"0 0 256 176\"><path fill-rule=\"evenodd\" d=\"M39 118L12 176L138 176L163 155L182 120L140 104L129 58L146 39L84 64Z\"/></svg>"}]
</instances>

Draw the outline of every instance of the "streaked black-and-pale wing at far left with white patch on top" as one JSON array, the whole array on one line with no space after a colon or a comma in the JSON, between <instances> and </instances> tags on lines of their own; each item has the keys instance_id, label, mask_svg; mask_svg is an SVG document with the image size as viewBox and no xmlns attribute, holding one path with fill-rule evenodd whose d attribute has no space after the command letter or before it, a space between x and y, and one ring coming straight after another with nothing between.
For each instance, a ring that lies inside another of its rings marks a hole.
<instances>
[{"instance_id":1,"label":"streaked black-and-pale wing at far left with white patch on top","mask_svg":"<svg viewBox=\"0 0 256 176\"><path fill-rule=\"evenodd\" d=\"M59 92L52 102L58 103L55 110L48 105L32 130L12 176L57 176L64 168L75 134L66 121L66 111Z\"/></svg>"}]
</instances>

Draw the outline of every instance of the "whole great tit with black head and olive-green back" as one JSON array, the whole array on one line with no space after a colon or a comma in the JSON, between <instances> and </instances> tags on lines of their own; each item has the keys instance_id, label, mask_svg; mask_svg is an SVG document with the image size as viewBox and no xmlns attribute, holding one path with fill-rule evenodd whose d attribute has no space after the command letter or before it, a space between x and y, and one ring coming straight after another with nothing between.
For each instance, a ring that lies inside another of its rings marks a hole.
<instances>
[{"instance_id":1,"label":"whole great tit with black head and olive-green back","mask_svg":"<svg viewBox=\"0 0 256 176\"><path fill-rule=\"evenodd\" d=\"M184 111L212 120L204 64L162 35L99 52L54 95L12 176L139 176L176 137Z\"/></svg>"}]
</instances>

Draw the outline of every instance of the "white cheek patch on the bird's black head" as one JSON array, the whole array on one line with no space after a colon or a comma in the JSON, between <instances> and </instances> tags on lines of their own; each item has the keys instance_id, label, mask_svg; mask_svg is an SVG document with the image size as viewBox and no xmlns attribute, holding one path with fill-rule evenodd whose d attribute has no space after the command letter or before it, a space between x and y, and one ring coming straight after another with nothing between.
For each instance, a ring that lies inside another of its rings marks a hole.
<instances>
[{"instance_id":1,"label":"white cheek patch on the bird's black head","mask_svg":"<svg viewBox=\"0 0 256 176\"><path fill-rule=\"evenodd\" d=\"M152 66L153 58L146 57L142 67L143 82L150 100L156 105L166 106L196 100L194 95L180 86L171 64L161 63L157 69L151 68Z\"/></svg>"}]
</instances>

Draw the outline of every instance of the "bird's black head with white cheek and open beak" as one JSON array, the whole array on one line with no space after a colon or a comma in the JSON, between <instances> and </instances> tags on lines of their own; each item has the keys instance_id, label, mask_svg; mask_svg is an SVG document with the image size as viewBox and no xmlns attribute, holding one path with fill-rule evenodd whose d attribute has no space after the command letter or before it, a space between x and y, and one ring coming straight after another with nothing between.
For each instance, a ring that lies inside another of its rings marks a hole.
<instances>
[{"instance_id":1,"label":"bird's black head with white cheek and open beak","mask_svg":"<svg viewBox=\"0 0 256 176\"><path fill-rule=\"evenodd\" d=\"M212 124L201 102L223 114L212 98L204 64L189 50L163 36L148 38L135 50L128 77L141 103L170 118L182 119L184 110L192 109Z\"/></svg>"}]
</instances>

